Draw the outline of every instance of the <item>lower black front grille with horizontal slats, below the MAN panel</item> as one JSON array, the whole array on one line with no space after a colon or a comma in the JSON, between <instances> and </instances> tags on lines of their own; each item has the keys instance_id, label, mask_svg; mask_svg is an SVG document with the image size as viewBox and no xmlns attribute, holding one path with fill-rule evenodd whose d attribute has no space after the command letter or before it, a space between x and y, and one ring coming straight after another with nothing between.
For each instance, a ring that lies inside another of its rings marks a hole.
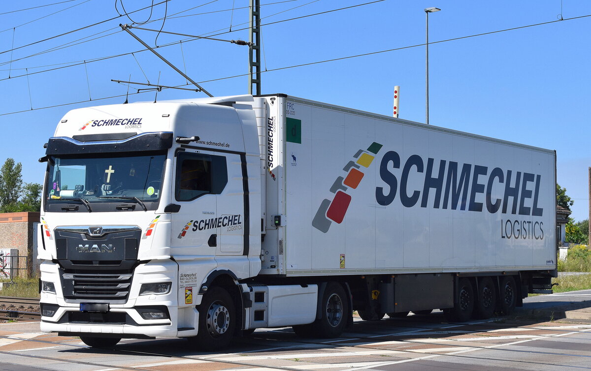
<instances>
[{"instance_id":1,"label":"lower black front grille with horizontal slats, below the MAN panel","mask_svg":"<svg viewBox=\"0 0 591 371\"><path fill-rule=\"evenodd\" d=\"M132 274L63 273L64 297L76 301L125 302Z\"/></svg>"}]
</instances>

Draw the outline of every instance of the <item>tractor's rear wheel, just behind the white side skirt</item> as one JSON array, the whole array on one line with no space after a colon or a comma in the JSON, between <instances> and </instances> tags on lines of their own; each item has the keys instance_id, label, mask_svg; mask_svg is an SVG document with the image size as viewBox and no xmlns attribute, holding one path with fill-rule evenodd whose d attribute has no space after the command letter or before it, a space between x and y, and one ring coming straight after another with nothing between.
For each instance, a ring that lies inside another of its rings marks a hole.
<instances>
[{"instance_id":1,"label":"tractor's rear wheel, just behind the white side skirt","mask_svg":"<svg viewBox=\"0 0 591 371\"><path fill-rule=\"evenodd\" d=\"M342 285L329 282L319 306L320 318L311 324L293 326L297 336L332 338L343 333L349 316L349 300Z\"/></svg>"}]
</instances>

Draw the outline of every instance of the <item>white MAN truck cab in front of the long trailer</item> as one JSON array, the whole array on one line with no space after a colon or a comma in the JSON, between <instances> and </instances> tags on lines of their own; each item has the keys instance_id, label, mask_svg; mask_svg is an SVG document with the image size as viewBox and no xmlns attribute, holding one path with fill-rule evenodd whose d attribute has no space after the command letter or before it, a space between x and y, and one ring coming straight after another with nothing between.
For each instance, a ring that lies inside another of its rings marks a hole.
<instances>
[{"instance_id":1,"label":"white MAN truck cab in front of the long trailer","mask_svg":"<svg viewBox=\"0 0 591 371\"><path fill-rule=\"evenodd\" d=\"M210 335L248 328L248 289L238 281L261 269L252 100L132 103L63 117L40 159L41 330L93 346L194 337L208 291L217 301L206 310L216 323L203 324L214 327Z\"/></svg>"}]
</instances>

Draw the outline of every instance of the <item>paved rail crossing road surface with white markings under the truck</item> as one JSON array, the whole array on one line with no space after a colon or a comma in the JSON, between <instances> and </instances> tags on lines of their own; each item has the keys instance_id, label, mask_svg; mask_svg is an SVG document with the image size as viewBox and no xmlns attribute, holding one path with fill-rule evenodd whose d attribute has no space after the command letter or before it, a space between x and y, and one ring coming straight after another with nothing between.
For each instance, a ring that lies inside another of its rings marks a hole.
<instances>
[{"instance_id":1,"label":"paved rail crossing road surface with white markings under the truck","mask_svg":"<svg viewBox=\"0 0 591 371\"><path fill-rule=\"evenodd\" d=\"M38 322L0 323L0 370L591 369L591 319L528 317L558 307L568 314L569 305L573 311L589 310L591 290L524 301L516 318L470 323L448 323L440 312L381 321L355 318L337 339L299 338L291 328L259 329L223 353L199 352L186 340L167 338L126 339L114 349L91 349L75 337L41 333Z\"/></svg>"}]
</instances>

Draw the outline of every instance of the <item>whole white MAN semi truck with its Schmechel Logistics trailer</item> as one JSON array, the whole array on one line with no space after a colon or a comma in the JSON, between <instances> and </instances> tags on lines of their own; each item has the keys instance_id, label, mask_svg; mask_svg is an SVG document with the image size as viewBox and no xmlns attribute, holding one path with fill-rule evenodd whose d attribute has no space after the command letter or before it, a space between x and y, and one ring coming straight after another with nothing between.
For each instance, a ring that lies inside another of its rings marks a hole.
<instances>
[{"instance_id":1,"label":"whole white MAN semi truck with its Schmechel Logistics trailer","mask_svg":"<svg viewBox=\"0 0 591 371\"><path fill-rule=\"evenodd\" d=\"M488 318L557 275L547 149L276 94L75 109L40 161L41 330L90 346Z\"/></svg>"}]
</instances>

